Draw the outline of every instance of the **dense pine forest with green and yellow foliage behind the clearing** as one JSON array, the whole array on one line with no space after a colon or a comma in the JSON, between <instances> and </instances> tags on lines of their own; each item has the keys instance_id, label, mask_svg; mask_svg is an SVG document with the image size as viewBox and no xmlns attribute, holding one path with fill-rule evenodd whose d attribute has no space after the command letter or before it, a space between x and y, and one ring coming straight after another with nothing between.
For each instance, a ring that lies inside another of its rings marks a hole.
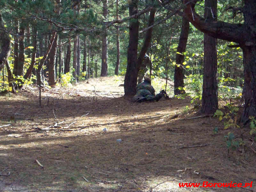
<instances>
[{"instance_id":1,"label":"dense pine forest with green and yellow foliage behind the clearing","mask_svg":"<svg viewBox=\"0 0 256 192\"><path fill-rule=\"evenodd\" d=\"M256 114L255 6L249 0L1 0L0 91L125 75L124 92L132 95L142 70L143 76L179 82L175 95L187 94L200 105L207 34L218 39L212 89L222 99L243 90L246 122ZM180 47L184 20L187 43ZM145 55L150 64L143 67Z\"/></svg>"}]
</instances>

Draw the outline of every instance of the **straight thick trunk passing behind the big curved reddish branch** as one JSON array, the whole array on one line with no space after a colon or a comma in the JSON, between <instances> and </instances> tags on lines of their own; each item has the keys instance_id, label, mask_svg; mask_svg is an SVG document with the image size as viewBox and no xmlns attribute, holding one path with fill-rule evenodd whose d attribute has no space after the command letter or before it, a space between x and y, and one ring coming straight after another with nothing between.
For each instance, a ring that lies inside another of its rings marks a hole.
<instances>
[{"instance_id":1,"label":"straight thick trunk passing behind the big curved reddish branch","mask_svg":"<svg viewBox=\"0 0 256 192\"><path fill-rule=\"evenodd\" d=\"M214 18L213 18L214 16ZM217 20L217 0L204 1L205 20ZM217 39L204 34L203 114L213 114L218 109Z\"/></svg>"}]
</instances>

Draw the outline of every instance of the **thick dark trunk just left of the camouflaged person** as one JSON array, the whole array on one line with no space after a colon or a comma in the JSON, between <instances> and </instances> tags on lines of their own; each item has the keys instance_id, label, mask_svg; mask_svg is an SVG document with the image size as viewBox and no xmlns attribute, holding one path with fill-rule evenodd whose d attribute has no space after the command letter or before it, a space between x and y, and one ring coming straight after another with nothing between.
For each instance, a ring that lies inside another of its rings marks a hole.
<instances>
[{"instance_id":1,"label":"thick dark trunk just left of the camouflaged person","mask_svg":"<svg viewBox=\"0 0 256 192\"><path fill-rule=\"evenodd\" d=\"M138 0L132 0L129 4L129 16L138 13ZM129 45L127 51L127 68L124 77L124 94L135 95L138 78L138 41L139 20L134 18L129 24Z\"/></svg>"}]
</instances>

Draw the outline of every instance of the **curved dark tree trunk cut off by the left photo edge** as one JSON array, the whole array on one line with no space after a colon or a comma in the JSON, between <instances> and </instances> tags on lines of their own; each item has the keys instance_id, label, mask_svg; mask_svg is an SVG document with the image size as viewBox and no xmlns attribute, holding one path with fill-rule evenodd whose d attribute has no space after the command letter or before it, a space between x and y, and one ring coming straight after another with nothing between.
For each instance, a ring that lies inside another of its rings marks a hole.
<instances>
[{"instance_id":1,"label":"curved dark tree trunk cut off by the left photo edge","mask_svg":"<svg viewBox=\"0 0 256 192\"><path fill-rule=\"evenodd\" d=\"M1 7L0 7L1 8ZM0 28L4 29L4 23L2 19L2 12L0 9ZM11 53L11 38L8 33L4 30L0 31L0 43L1 43L1 52L0 52L0 70L4 68L4 64Z\"/></svg>"}]
</instances>

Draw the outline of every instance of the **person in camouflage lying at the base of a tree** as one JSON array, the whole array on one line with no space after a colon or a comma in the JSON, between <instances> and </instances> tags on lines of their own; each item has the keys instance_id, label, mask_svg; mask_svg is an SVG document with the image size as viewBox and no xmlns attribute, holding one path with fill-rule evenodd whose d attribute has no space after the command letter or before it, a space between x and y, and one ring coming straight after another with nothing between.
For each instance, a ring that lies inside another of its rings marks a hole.
<instances>
[{"instance_id":1,"label":"person in camouflage lying at the base of a tree","mask_svg":"<svg viewBox=\"0 0 256 192\"><path fill-rule=\"evenodd\" d=\"M137 86L137 92L132 98L133 102L152 100L155 97L155 89L151 86L150 78L145 78L143 83Z\"/></svg>"}]
</instances>

